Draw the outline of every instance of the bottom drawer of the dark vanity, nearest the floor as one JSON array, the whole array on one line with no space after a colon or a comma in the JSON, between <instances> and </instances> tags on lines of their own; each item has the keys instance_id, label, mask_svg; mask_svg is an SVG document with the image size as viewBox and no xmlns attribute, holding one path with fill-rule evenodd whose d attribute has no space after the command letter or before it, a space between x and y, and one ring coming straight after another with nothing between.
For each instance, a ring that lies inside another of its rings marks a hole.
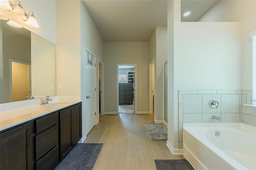
<instances>
[{"instance_id":1,"label":"bottom drawer of the dark vanity, nearest the floor","mask_svg":"<svg viewBox=\"0 0 256 170\"><path fill-rule=\"evenodd\" d=\"M36 170L53 170L59 163L59 145L36 162Z\"/></svg>"}]
</instances>

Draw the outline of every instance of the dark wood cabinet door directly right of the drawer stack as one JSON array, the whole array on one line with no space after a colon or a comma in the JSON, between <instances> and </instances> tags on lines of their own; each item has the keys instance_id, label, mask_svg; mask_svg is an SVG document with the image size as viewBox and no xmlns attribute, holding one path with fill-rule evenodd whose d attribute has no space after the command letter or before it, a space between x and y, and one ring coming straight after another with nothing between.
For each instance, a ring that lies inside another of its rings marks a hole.
<instances>
[{"instance_id":1,"label":"dark wood cabinet door directly right of the drawer stack","mask_svg":"<svg viewBox=\"0 0 256 170\"><path fill-rule=\"evenodd\" d=\"M60 111L60 159L72 149L72 107Z\"/></svg>"}]
</instances>

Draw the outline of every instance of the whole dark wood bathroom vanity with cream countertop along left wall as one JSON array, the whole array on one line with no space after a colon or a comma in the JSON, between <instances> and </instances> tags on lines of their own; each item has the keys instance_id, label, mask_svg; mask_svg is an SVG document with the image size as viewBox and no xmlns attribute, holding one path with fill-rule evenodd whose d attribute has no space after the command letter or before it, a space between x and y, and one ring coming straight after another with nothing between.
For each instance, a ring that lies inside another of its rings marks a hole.
<instances>
[{"instance_id":1,"label":"whole dark wood bathroom vanity with cream countertop along left wall","mask_svg":"<svg viewBox=\"0 0 256 170\"><path fill-rule=\"evenodd\" d=\"M54 169L82 138L81 102L33 108L34 111L26 114L31 115L27 121L1 128L1 170ZM45 113L41 114L41 110ZM35 117L35 113L40 114ZM10 120L19 117L24 115L6 121L10 124Z\"/></svg>"}]
</instances>

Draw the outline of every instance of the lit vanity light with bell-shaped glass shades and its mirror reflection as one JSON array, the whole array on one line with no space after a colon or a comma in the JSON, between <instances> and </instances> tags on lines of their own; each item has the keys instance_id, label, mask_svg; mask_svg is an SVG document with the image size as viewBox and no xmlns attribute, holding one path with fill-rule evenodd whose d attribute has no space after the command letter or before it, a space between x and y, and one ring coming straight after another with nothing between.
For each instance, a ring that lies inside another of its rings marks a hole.
<instances>
[{"instance_id":1,"label":"lit vanity light with bell-shaped glass shades and its mirror reflection","mask_svg":"<svg viewBox=\"0 0 256 170\"><path fill-rule=\"evenodd\" d=\"M14 4L12 4L8 0L0 0L0 8L9 10L10 12L14 13L17 18L20 18L21 20L26 20L25 24L27 24L28 26L39 28L39 25L37 24L37 21L36 21L36 17L34 16L34 12L30 11L26 15L26 13L24 12L20 4L20 1L16 1ZM20 24L12 20L9 20L7 24L16 28L22 28Z\"/></svg>"}]
</instances>

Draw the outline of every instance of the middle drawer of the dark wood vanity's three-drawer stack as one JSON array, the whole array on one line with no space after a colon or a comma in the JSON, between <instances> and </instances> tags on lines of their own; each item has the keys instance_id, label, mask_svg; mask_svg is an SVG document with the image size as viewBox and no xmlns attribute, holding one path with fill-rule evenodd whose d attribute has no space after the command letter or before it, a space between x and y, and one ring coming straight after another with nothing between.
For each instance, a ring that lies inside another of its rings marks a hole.
<instances>
[{"instance_id":1,"label":"middle drawer of the dark wood vanity's three-drawer stack","mask_svg":"<svg viewBox=\"0 0 256 170\"><path fill-rule=\"evenodd\" d=\"M58 144L58 124L36 135L36 161Z\"/></svg>"}]
</instances>

